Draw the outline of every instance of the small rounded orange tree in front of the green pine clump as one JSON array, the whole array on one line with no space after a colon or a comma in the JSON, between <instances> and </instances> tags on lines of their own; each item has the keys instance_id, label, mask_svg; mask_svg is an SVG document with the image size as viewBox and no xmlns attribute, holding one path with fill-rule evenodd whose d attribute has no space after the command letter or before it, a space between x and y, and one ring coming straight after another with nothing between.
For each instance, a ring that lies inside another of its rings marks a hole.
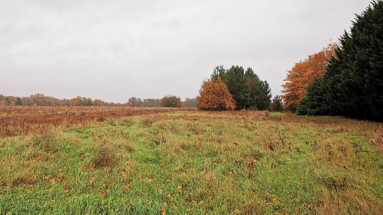
<instances>
[{"instance_id":1,"label":"small rounded orange tree in front of the green pine clump","mask_svg":"<svg viewBox=\"0 0 383 215\"><path fill-rule=\"evenodd\" d=\"M222 82L219 76L204 81L200 89L200 95L196 99L196 106L204 110L223 111L237 107L228 86Z\"/></svg>"}]
</instances>

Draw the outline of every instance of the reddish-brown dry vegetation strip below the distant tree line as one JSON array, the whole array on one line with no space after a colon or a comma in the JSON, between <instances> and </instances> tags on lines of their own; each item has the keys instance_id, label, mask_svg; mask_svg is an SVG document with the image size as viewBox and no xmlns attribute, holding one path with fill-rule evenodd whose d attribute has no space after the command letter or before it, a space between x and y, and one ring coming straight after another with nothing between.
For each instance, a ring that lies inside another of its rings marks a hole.
<instances>
[{"instance_id":1,"label":"reddish-brown dry vegetation strip below the distant tree line","mask_svg":"<svg viewBox=\"0 0 383 215\"><path fill-rule=\"evenodd\" d=\"M182 108L132 108L132 107L0 107L0 137L25 135L46 130L47 127L102 122L124 116L159 114L182 111Z\"/></svg>"}]
</instances>

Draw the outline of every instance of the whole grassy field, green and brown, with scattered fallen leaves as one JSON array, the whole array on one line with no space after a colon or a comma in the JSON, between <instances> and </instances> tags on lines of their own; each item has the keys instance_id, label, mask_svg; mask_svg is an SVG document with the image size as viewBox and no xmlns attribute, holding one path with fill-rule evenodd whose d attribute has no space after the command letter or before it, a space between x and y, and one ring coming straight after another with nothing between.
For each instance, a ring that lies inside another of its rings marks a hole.
<instances>
[{"instance_id":1,"label":"whole grassy field, green and brown, with scattered fallen leaves","mask_svg":"<svg viewBox=\"0 0 383 215\"><path fill-rule=\"evenodd\" d=\"M383 124L0 108L0 214L382 214Z\"/></svg>"}]
</instances>

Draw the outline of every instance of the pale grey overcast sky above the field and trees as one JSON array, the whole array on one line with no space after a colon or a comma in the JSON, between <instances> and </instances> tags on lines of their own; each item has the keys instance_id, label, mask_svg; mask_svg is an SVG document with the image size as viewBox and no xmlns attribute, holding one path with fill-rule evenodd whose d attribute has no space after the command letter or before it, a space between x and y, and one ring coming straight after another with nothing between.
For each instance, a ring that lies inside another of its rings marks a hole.
<instances>
[{"instance_id":1,"label":"pale grey overcast sky above the field and trees","mask_svg":"<svg viewBox=\"0 0 383 215\"><path fill-rule=\"evenodd\" d=\"M0 93L193 98L213 68L286 71L349 31L370 0L2 0Z\"/></svg>"}]
</instances>

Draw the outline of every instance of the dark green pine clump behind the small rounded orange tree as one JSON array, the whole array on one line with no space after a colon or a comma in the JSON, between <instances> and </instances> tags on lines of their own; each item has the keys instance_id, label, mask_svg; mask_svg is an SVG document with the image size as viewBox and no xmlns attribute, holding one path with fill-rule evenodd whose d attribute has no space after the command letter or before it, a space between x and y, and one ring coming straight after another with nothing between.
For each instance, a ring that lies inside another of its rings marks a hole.
<instances>
[{"instance_id":1,"label":"dark green pine clump behind the small rounded orange tree","mask_svg":"<svg viewBox=\"0 0 383 215\"><path fill-rule=\"evenodd\" d=\"M267 110L271 103L271 90L267 81L259 79L252 68L232 66L225 69L223 65L213 70L211 77L221 77L221 80L228 86L230 93L236 101L237 109L249 109L256 107L259 110Z\"/></svg>"}]
</instances>

